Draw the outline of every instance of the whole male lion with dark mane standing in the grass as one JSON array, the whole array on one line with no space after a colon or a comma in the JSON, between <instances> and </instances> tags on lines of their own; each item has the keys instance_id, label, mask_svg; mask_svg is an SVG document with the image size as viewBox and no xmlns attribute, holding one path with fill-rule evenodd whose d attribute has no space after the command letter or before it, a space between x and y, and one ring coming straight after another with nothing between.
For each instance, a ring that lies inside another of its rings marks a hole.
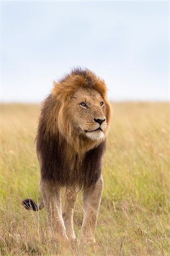
<instances>
[{"instance_id":1,"label":"whole male lion with dark mane standing in the grass","mask_svg":"<svg viewBox=\"0 0 170 256\"><path fill-rule=\"evenodd\" d=\"M73 209L83 191L81 240L95 242L103 177L101 164L111 107L103 80L88 69L74 69L59 82L42 105L36 137L43 202L23 200L27 209L48 214L50 229L65 240L76 239ZM64 187L61 209L60 189Z\"/></svg>"}]
</instances>

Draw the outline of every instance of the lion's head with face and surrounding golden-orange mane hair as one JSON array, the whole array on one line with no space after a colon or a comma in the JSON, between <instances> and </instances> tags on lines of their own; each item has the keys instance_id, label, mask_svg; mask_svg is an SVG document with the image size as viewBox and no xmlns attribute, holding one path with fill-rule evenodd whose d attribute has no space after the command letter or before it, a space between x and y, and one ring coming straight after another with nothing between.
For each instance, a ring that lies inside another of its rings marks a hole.
<instances>
[{"instance_id":1,"label":"lion's head with face and surrounding golden-orange mane hair","mask_svg":"<svg viewBox=\"0 0 170 256\"><path fill-rule=\"evenodd\" d=\"M58 129L67 140L83 137L101 142L107 134L111 108L103 80L89 70L75 69L54 83L54 100L59 102L56 113Z\"/></svg>"}]
</instances>

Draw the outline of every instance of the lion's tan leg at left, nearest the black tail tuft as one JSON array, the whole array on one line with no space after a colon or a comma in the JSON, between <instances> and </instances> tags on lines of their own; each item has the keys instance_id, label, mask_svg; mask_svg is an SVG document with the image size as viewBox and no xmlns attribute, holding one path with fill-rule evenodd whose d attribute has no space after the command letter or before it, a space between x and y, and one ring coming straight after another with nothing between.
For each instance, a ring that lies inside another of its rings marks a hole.
<instances>
[{"instance_id":1,"label":"lion's tan leg at left, nearest the black tail tuft","mask_svg":"<svg viewBox=\"0 0 170 256\"><path fill-rule=\"evenodd\" d=\"M49 181L41 181L41 193L48 214L48 224L52 234L68 240L62 218L60 189Z\"/></svg>"}]
</instances>

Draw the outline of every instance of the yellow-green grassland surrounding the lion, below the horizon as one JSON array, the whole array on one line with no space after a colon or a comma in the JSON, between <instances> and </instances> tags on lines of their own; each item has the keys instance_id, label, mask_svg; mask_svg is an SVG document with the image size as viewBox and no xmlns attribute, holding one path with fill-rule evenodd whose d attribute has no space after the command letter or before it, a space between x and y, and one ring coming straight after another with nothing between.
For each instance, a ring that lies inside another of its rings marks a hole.
<instances>
[{"instance_id":1,"label":"yellow-green grassland surrounding the lion, below the horizon","mask_svg":"<svg viewBox=\"0 0 170 256\"><path fill-rule=\"evenodd\" d=\"M170 122L168 103L113 104L104 157L104 192L95 246L74 251L50 240L41 201L35 135L39 106L2 104L0 145L1 255L170 255ZM82 201L75 207L77 236Z\"/></svg>"}]
</instances>

